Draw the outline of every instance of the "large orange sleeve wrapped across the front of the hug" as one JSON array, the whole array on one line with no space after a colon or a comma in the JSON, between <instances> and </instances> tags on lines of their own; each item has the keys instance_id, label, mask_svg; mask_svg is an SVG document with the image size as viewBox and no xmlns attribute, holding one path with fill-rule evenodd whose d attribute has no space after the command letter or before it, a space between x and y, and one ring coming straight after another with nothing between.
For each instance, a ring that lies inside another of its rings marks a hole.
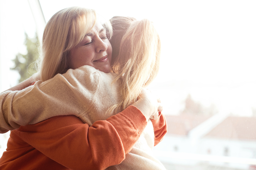
<instances>
[{"instance_id":1,"label":"large orange sleeve wrapped across the front of the hug","mask_svg":"<svg viewBox=\"0 0 256 170\"><path fill-rule=\"evenodd\" d=\"M57 116L21 126L17 135L67 168L104 170L124 160L146 125L142 112L129 106L92 126L72 115Z\"/></svg>"}]
</instances>

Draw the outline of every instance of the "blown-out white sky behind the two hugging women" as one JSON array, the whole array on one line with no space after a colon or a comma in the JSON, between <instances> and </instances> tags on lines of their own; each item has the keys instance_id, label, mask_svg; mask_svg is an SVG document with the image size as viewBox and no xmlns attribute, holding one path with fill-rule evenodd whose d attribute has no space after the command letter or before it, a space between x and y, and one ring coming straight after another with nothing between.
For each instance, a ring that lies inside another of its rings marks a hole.
<instances>
[{"instance_id":1,"label":"blown-out white sky behind the two hugging women","mask_svg":"<svg viewBox=\"0 0 256 170\"><path fill-rule=\"evenodd\" d=\"M162 40L162 61L152 84L166 114L178 114L188 94L205 106L251 115L256 108L255 0L40 0L46 21L70 6L95 9L105 19L129 16L153 21ZM27 0L0 1L1 91L14 85L8 69L24 31L35 34Z\"/></svg>"}]
</instances>

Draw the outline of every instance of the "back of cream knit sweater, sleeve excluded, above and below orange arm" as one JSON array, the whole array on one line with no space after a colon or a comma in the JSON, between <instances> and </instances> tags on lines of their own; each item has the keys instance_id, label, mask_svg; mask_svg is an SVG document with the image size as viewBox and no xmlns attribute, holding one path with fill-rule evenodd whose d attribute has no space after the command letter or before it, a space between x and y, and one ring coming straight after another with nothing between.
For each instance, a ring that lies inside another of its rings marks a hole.
<instances>
[{"instance_id":1,"label":"back of cream knit sweater, sleeve excluded, above and below orange arm","mask_svg":"<svg viewBox=\"0 0 256 170\"><path fill-rule=\"evenodd\" d=\"M112 116L107 110L117 104L121 97L118 84L112 84L115 78L114 73L104 73L90 66L87 66L86 69L87 72L98 75L97 83L94 81L95 79L92 80L92 83L96 83L94 85L97 87L95 95L88 101L92 105L87 110L87 113L82 114L80 117L84 122L92 125L95 121L104 120ZM162 163L154 158L152 154L153 147L154 128L151 120L149 120L142 135L126 155L125 160L119 165L107 168L107 170L164 170Z\"/></svg>"}]
</instances>

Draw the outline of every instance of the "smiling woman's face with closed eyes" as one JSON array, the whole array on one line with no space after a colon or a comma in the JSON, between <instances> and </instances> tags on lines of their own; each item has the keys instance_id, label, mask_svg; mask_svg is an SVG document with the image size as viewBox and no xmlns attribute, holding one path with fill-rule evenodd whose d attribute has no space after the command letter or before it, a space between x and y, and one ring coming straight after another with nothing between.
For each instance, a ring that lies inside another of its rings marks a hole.
<instances>
[{"instance_id":1,"label":"smiling woman's face with closed eyes","mask_svg":"<svg viewBox=\"0 0 256 170\"><path fill-rule=\"evenodd\" d=\"M112 47L107 39L106 30L101 24L94 26L84 39L70 51L68 68L92 66L102 72L109 73Z\"/></svg>"}]
</instances>

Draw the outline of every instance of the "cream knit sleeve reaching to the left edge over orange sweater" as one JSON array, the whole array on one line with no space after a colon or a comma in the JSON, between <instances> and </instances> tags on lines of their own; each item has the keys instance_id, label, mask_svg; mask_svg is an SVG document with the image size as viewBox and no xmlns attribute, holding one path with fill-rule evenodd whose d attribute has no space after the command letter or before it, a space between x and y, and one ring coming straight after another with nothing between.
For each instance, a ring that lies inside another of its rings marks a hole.
<instances>
[{"instance_id":1,"label":"cream knit sleeve reaching to the left edge over orange sweater","mask_svg":"<svg viewBox=\"0 0 256 170\"><path fill-rule=\"evenodd\" d=\"M98 71L82 66L62 75L57 74L45 82L37 81L20 91L2 92L0 133L54 116L72 113L80 117L92 106L98 87Z\"/></svg>"}]
</instances>

